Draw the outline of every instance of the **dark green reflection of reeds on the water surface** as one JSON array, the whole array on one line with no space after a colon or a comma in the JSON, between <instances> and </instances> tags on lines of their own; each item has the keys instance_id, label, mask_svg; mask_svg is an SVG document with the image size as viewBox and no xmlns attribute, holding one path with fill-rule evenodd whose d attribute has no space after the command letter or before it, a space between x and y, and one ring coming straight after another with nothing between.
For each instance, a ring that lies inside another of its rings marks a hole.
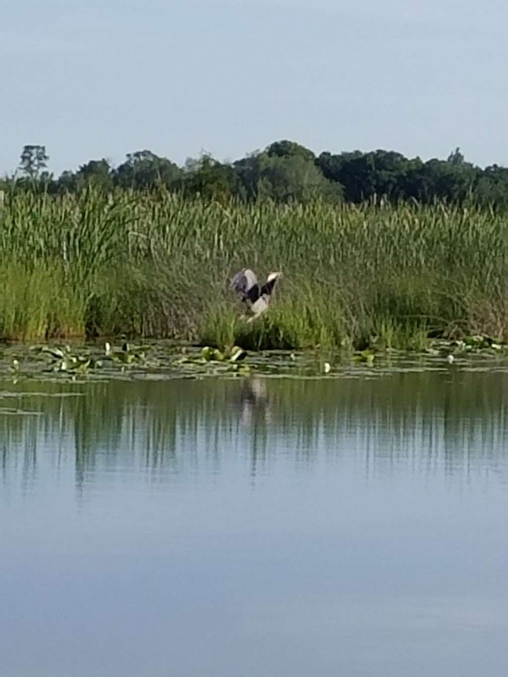
<instances>
[{"instance_id":1,"label":"dark green reflection of reeds on the water surface","mask_svg":"<svg viewBox=\"0 0 508 677\"><path fill-rule=\"evenodd\" d=\"M118 381L4 384L4 480L37 477L41 450L59 471L74 457L79 492L117 468L154 482L219 473L224 450L269 474L278 454L298 464L354 453L366 477L400 463L418 473L496 472L504 454L508 374L394 373L377 379ZM282 450L282 451L281 451ZM480 470L479 470L480 472Z\"/></svg>"}]
</instances>

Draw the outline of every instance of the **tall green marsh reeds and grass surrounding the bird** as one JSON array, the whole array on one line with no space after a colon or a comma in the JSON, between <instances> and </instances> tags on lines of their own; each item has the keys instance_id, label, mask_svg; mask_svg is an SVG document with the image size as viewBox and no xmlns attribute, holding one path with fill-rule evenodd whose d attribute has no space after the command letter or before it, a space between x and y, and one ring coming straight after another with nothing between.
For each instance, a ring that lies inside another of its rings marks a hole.
<instances>
[{"instance_id":1,"label":"tall green marsh reeds and grass surrounding the bird","mask_svg":"<svg viewBox=\"0 0 508 677\"><path fill-rule=\"evenodd\" d=\"M171 336L251 349L423 347L508 336L508 217L419 206L184 200L165 190L7 190L0 334ZM281 269L252 324L234 272Z\"/></svg>"}]
</instances>

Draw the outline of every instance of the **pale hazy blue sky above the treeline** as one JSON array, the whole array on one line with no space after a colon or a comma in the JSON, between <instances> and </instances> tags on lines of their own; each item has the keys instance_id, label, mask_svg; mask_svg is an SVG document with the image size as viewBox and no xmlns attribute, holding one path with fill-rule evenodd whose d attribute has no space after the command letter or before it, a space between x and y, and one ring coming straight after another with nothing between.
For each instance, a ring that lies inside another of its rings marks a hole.
<instances>
[{"instance_id":1,"label":"pale hazy blue sky above the treeline","mask_svg":"<svg viewBox=\"0 0 508 677\"><path fill-rule=\"evenodd\" d=\"M508 0L3 0L0 172L277 139L508 165L507 26Z\"/></svg>"}]
</instances>

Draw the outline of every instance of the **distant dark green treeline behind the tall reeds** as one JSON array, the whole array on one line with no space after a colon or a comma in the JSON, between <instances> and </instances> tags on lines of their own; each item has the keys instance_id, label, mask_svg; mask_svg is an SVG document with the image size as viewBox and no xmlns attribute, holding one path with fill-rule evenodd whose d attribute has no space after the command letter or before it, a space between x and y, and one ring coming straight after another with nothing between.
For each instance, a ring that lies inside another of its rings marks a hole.
<instances>
[{"instance_id":1,"label":"distant dark green treeline behind the tall reeds","mask_svg":"<svg viewBox=\"0 0 508 677\"><path fill-rule=\"evenodd\" d=\"M0 188L61 194L80 192L89 185L104 191L163 186L185 196L220 202L231 198L331 203L417 200L508 206L508 169L476 167L466 162L459 148L446 160L423 162L387 150L322 152L316 156L312 150L284 140L236 162L219 162L203 154L189 158L184 167L141 150L127 154L118 167L104 158L89 160L77 171L64 171L58 178L47 170L48 162L45 146L24 146L18 170L12 177L0 179Z\"/></svg>"}]
</instances>

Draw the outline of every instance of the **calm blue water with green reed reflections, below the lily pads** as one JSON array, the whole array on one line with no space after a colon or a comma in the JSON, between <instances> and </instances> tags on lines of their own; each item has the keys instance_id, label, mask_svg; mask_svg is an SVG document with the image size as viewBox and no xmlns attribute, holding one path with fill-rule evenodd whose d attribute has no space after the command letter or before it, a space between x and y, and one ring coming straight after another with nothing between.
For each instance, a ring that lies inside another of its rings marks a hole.
<instances>
[{"instance_id":1,"label":"calm blue water with green reed reflections, below the lily pads","mask_svg":"<svg viewBox=\"0 0 508 677\"><path fill-rule=\"evenodd\" d=\"M0 674L507 674L507 387L1 384Z\"/></svg>"}]
</instances>

